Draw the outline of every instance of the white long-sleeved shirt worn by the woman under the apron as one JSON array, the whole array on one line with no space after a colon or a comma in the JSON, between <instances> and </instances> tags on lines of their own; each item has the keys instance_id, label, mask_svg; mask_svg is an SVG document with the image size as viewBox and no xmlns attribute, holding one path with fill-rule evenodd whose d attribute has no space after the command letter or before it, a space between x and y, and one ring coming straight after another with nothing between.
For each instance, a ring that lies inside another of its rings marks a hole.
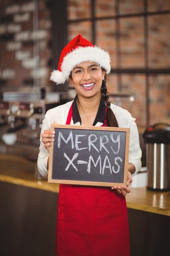
<instances>
[{"instance_id":1,"label":"white long-sleeved shirt worn by the woman under the apron","mask_svg":"<svg viewBox=\"0 0 170 256\"><path fill-rule=\"evenodd\" d=\"M68 111L71 107L73 101L70 101L64 105L57 106L46 112L44 120L42 121L41 135L44 130L51 130L51 124L56 121L57 124L66 124ZM139 146L139 133L135 123L135 118L133 118L130 113L114 104L111 104L111 109L113 110L115 117L117 119L120 128L130 128L130 143L129 143L129 163L135 165L135 175L141 168L141 149ZM95 126L101 126L103 123L97 122ZM71 125L73 124L73 119L71 119ZM77 122L75 125L80 125ZM49 157L49 151L44 147L42 142L42 136L40 135L40 152L38 155L38 170L42 176L48 175L47 170L47 159Z\"/></svg>"}]
</instances>

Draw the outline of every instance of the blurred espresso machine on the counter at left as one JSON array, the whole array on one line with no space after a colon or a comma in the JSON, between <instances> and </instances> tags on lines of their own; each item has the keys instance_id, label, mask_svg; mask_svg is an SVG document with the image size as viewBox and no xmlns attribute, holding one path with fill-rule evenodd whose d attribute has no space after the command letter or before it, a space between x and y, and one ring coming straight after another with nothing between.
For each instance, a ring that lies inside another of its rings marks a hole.
<instances>
[{"instance_id":1,"label":"blurred espresso machine on the counter at left","mask_svg":"<svg viewBox=\"0 0 170 256\"><path fill-rule=\"evenodd\" d=\"M68 101L64 93L4 92L0 99L0 153L36 161L46 111Z\"/></svg>"}]
</instances>

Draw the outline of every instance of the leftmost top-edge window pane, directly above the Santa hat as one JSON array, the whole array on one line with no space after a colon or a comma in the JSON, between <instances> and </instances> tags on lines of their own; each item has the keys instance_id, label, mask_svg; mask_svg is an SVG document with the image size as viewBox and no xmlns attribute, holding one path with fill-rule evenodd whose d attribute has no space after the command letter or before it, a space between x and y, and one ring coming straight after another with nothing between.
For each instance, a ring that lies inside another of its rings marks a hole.
<instances>
[{"instance_id":1,"label":"leftmost top-edge window pane, directly above the Santa hat","mask_svg":"<svg viewBox=\"0 0 170 256\"><path fill-rule=\"evenodd\" d=\"M91 18L91 0L67 0L68 20Z\"/></svg>"}]
</instances>

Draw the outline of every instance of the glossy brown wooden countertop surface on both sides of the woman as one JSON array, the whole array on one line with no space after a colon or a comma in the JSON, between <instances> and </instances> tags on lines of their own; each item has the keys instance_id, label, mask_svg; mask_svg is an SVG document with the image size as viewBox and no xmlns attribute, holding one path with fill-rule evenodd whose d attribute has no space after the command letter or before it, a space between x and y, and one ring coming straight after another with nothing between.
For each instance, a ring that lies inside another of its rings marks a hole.
<instances>
[{"instance_id":1,"label":"glossy brown wooden countertop surface on both sides of the woman","mask_svg":"<svg viewBox=\"0 0 170 256\"><path fill-rule=\"evenodd\" d=\"M0 181L54 193L59 192L59 184L48 183L46 179L34 177L35 162L24 157L0 154ZM126 195L127 207L151 213L170 216L170 191L157 192L144 188L131 189Z\"/></svg>"}]
</instances>

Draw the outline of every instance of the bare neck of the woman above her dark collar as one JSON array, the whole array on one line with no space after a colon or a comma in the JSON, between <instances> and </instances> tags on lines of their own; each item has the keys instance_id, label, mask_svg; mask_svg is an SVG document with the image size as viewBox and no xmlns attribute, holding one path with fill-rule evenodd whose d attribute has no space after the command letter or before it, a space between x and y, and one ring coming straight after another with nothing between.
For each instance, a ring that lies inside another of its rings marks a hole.
<instances>
[{"instance_id":1,"label":"bare neck of the woman above her dark collar","mask_svg":"<svg viewBox=\"0 0 170 256\"><path fill-rule=\"evenodd\" d=\"M86 99L84 99L78 95L77 107L78 107L80 115L82 113L93 114L94 112L96 112L99 108L100 100L101 100L101 95L100 95L100 97L96 95L93 98L86 98Z\"/></svg>"}]
</instances>

